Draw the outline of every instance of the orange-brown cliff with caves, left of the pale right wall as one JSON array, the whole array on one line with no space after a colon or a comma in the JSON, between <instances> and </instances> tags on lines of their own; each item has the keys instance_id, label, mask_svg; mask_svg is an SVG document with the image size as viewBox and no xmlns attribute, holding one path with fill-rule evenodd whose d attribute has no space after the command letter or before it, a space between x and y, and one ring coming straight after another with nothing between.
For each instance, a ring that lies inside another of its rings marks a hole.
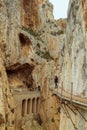
<instances>
[{"instance_id":1,"label":"orange-brown cliff with caves, left of the pale right wall","mask_svg":"<svg viewBox=\"0 0 87 130\"><path fill-rule=\"evenodd\" d=\"M66 19L55 21L52 11L48 0L0 1L0 130L59 128L59 101L50 87L54 87L54 75L61 76ZM12 91L29 91L38 85L41 123L28 117L24 122L21 117L16 125L19 102Z\"/></svg>"}]
</instances>

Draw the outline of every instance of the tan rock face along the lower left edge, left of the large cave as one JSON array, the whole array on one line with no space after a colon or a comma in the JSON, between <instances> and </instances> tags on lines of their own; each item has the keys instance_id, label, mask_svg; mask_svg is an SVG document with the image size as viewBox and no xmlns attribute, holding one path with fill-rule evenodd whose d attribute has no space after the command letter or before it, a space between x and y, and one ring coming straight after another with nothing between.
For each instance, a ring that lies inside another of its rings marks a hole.
<instances>
[{"instance_id":1,"label":"tan rock face along the lower left edge, left of the large cave","mask_svg":"<svg viewBox=\"0 0 87 130\"><path fill-rule=\"evenodd\" d=\"M10 93L4 62L0 51L0 129L15 129L15 101Z\"/></svg>"}]
</instances>

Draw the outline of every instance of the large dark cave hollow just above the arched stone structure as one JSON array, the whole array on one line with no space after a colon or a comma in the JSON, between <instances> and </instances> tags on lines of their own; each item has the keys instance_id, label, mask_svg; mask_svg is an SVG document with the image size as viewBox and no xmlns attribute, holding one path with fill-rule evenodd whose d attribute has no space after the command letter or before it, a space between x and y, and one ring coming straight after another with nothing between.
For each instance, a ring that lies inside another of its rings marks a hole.
<instances>
[{"instance_id":1,"label":"large dark cave hollow just above the arched stone structure","mask_svg":"<svg viewBox=\"0 0 87 130\"><path fill-rule=\"evenodd\" d=\"M32 77L33 65L14 64L10 66L6 72L8 76L8 82L11 89L31 89L34 86Z\"/></svg>"}]
</instances>

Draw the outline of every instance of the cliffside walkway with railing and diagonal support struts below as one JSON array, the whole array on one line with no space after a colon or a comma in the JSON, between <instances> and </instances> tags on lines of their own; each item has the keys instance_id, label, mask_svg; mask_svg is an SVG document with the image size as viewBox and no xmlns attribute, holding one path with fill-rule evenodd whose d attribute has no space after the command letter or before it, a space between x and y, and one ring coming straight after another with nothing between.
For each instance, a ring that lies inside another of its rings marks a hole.
<instances>
[{"instance_id":1,"label":"cliffside walkway with railing and diagonal support struts below","mask_svg":"<svg viewBox=\"0 0 87 130\"><path fill-rule=\"evenodd\" d=\"M52 88L51 88L52 89ZM81 98L78 97L77 95L73 95L73 84L71 85L71 93L67 93L66 91L63 90L63 87L58 88L58 90L52 89L53 93L58 96L60 102L61 102L61 108L65 112L67 118L70 119L73 127L77 130L77 127L72 119L71 114L69 113L67 107L76 115L76 111L81 115L81 117L87 122L87 119L85 116L82 115L82 113L79 111L78 108L86 109L87 110L87 98ZM77 99L83 99L77 100ZM74 109L68 104L70 102L71 106L74 107ZM78 104L78 106L77 106Z\"/></svg>"}]
</instances>

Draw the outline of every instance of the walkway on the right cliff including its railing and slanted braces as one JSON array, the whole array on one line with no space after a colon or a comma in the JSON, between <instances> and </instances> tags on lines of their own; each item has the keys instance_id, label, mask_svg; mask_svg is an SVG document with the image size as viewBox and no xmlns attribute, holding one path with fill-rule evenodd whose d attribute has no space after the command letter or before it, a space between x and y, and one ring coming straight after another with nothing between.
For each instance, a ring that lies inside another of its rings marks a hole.
<instances>
[{"instance_id":1,"label":"walkway on the right cliff including its railing and slanted braces","mask_svg":"<svg viewBox=\"0 0 87 130\"><path fill-rule=\"evenodd\" d=\"M70 114L70 112L68 110L73 112L75 114L75 116L77 115L77 113L79 113L80 116L87 122L87 119L79 110L79 107L81 107L81 106L86 107L86 109L87 109L87 98L85 98L86 103L80 102L79 100L75 100L75 98L73 99L73 97L78 97L78 95L73 94L73 83L71 83L71 92L70 93L63 89L63 84L62 84L61 89L58 88L57 91L55 91L55 89L54 89L53 93L56 94L56 96L58 96L58 98L60 100L60 108L66 114L66 117L70 119L75 130L77 130L78 128L76 127L76 124L74 123L74 121L72 119L72 115ZM69 94L70 96L68 96L66 98L64 93ZM79 107L77 107L77 104L79 105Z\"/></svg>"}]
</instances>

